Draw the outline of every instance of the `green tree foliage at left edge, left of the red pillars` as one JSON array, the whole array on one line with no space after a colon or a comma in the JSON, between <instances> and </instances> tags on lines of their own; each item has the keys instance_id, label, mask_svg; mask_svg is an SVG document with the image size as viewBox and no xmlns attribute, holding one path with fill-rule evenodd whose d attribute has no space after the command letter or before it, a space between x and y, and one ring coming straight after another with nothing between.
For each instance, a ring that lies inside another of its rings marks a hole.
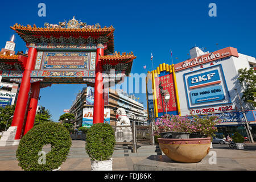
<instances>
[{"instance_id":1,"label":"green tree foliage at left edge, left of the red pillars","mask_svg":"<svg viewBox=\"0 0 256 182\"><path fill-rule=\"evenodd\" d=\"M5 130L6 123L7 128L6 130L11 126L11 122L13 122L13 116L15 110L15 105L7 105L5 107L0 107L0 130Z\"/></svg>"}]
</instances>

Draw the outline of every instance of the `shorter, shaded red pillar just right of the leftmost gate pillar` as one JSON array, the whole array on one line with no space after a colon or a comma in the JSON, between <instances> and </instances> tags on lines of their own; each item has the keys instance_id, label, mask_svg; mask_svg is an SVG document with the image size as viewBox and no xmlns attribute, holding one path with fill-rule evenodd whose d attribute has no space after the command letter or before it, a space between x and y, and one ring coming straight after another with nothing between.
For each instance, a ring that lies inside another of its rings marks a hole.
<instances>
[{"instance_id":1,"label":"shorter, shaded red pillar just right of the leftmost gate pillar","mask_svg":"<svg viewBox=\"0 0 256 182\"><path fill-rule=\"evenodd\" d=\"M30 105L28 106L27 122L24 130L24 135L34 127L36 109L38 107L38 97L40 92L40 82L31 84L31 98Z\"/></svg>"}]
</instances>

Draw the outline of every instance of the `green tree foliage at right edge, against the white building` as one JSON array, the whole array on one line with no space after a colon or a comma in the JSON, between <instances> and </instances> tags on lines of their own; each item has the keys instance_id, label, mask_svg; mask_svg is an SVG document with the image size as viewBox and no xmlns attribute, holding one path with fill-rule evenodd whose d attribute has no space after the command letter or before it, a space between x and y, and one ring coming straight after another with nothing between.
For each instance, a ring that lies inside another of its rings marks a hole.
<instances>
[{"instance_id":1,"label":"green tree foliage at right edge, against the white building","mask_svg":"<svg viewBox=\"0 0 256 182\"><path fill-rule=\"evenodd\" d=\"M256 70L250 68L247 70L239 69L238 78L240 84L244 86L245 90L243 91L242 99L245 102L250 103L256 107Z\"/></svg>"}]
</instances>

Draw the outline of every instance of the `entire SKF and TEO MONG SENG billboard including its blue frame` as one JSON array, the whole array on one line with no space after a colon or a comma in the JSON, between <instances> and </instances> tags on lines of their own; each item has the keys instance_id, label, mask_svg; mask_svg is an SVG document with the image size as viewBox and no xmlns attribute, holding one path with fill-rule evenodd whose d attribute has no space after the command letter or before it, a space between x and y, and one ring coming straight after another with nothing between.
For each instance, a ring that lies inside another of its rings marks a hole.
<instances>
[{"instance_id":1,"label":"entire SKF and TEO MONG SENG billboard including its blue frame","mask_svg":"<svg viewBox=\"0 0 256 182\"><path fill-rule=\"evenodd\" d=\"M189 109L231 103L220 64L185 73L183 78Z\"/></svg>"}]
</instances>

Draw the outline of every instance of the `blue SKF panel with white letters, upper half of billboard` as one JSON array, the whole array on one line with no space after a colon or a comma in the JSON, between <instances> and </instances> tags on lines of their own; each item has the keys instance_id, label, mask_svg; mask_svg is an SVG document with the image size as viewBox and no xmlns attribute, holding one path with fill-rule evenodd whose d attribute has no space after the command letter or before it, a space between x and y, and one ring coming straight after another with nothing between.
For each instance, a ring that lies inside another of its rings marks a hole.
<instances>
[{"instance_id":1,"label":"blue SKF panel with white letters, upper half of billboard","mask_svg":"<svg viewBox=\"0 0 256 182\"><path fill-rule=\"evenodd\" d=\"M203 86L214 85L214 84L220 84L220 82L221 82L220 75L218 74L217 69L188 77L189 89L195 89L195 88L200 88Z\"/></svg>"}]
</instances>

